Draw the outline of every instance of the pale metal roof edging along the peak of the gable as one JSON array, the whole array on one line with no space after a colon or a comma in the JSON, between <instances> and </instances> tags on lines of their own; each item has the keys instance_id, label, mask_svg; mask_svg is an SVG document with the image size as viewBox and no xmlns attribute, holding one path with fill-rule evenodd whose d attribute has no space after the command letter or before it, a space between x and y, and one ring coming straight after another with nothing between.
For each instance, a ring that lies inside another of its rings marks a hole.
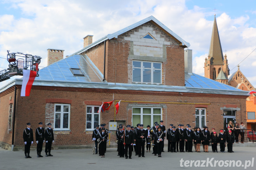
<instances>
[{"instance_id":1,"label":"pale metal roof edging along the peak of the gable","mask_svg":"<svg viewBox=\"0 0 256 170\"><path fill-rule=\"evenodd\" d=\"M166 27L163 23L161 23L159 20L157 20L154 16L149 16L148 18L145 18L139 22L136 22L134 23L133 25L130 25L128 27L125 27L113 34L108 34L107 36L104 36L103 38L95 41L94 43L91 43L89 46L79 50L78 52L72 54L72 55L75 55L75 54L81 54L83 52L85 52L86 50L90 49L91 47L94 47L96 45L98 45L99 43L101 42L104 42L105 40L110 40L110 39L113 39L113 38L117 38L118 35L121 35L133 28L136 28L148 21L154 21L156 24L158 24L160 27L162 27L164 30L166 30L169 34L171 34L174 38L176 38L178 41L180 41L182 43L183 46L186 46L186 47L190 47L190 43L186 42L185 40L183 40L182 38L180 38L177 34L175 34L171 29L169 29L168 27Z\"/></svg>"}]
</instances>

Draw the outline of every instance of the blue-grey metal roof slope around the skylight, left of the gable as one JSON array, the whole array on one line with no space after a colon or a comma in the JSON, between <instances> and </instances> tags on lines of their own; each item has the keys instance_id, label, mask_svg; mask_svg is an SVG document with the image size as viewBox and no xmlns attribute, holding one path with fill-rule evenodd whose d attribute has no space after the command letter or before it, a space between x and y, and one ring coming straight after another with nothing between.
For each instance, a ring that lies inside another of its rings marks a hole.
<instances>
[{"instance_id":1,"label":"blue-grey metal roof slope around the skylight, left of the gable","mask_svg":"<svg viewBox=\"0 0 256 170\"><path fill-rule=\"evenodd\" d=\"M74 76L71 68L80 69L84 76ZM57 61L38 72L35 80L66 82L102 82L103 75L87 55L73 55Z\"/></svg>"}]
</instances>

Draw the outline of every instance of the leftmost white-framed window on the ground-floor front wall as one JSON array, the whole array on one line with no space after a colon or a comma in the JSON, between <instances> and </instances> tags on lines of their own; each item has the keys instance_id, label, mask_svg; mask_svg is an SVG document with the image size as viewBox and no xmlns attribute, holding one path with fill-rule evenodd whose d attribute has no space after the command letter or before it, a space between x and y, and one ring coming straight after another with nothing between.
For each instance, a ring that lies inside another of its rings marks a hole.
<instances>
[{"instance_id":1,"label":"leftmost white-framed window on the ground-floor front wall","mask_svg":"<svg viewBox=\"0 0 256 170\"><path fill-rule=\"evenodd\" d=\"M70 129L70 104L54 105L54 130Z\"/></svg>"}]
</instances>

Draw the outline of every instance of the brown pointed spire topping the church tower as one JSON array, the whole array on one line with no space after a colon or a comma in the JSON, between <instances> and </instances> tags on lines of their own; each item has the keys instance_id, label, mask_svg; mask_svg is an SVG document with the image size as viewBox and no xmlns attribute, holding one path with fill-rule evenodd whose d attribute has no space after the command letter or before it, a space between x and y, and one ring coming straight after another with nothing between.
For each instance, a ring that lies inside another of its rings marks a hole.
<instances>
[{"instance_id":1,"label":"brown pointed spire topping the church tower","mask_svg":"<svg viewBox=\"0 0 256 170\"><path fill-rule=\"evenodd\" d=\"M214 16L209 56L213 57L213 64L224 64L223 63L224 57L223 57L222 48L221 48L220 39L219 39L216 16Z\"/></svg>"}]
</instances>

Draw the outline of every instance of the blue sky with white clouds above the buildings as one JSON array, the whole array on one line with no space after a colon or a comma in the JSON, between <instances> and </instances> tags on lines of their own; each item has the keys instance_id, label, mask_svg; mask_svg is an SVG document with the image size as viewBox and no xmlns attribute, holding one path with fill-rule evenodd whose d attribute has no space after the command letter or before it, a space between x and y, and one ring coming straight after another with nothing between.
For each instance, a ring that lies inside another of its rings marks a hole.
<instances>
[{"instance_id":1,"label":"blue sky with white clouds above the buildings","mask_svg":"<svg viewBox=\"0 0 256 170\"><path fill-rule=\"evenodd\" d=\"M8 67L7 50L41 56L42 68L48 48L71 55L83 48L88 34L96 41L153 15L190 43L193 73L204 76L214 14L230 74L249 55L240 70L256 87L254 0L0 0L0 70ZM9 81L0 82L0 88Z\"/></svg>"}]
</instances>

